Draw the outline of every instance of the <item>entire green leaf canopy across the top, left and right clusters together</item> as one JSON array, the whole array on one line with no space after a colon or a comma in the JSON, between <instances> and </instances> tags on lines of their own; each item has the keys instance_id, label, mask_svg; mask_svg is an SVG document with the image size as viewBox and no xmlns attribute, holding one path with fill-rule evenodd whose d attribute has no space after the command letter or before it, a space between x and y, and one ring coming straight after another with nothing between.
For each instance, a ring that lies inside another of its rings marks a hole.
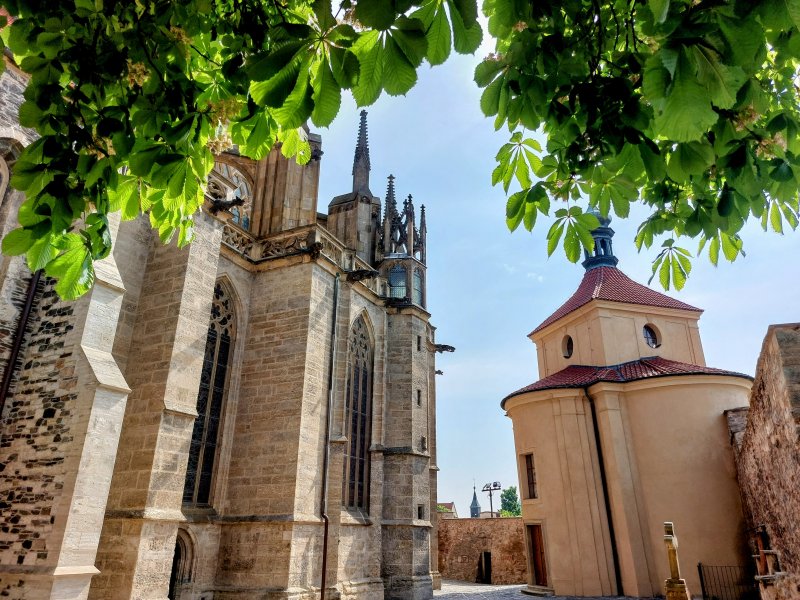
<instances>
[{"instance_id":1,"label":"entire green leaf canopy across the top, left and right clusters together","mask_svg":"<svg viewBox=\"0 0 800 600\"><path fill-rule=\"evenodd\" d=\"M342 93L402 95L417 70L482 31L475 0L31 0L3 41L30 74L20 122L40 138L14 167L21 227L3 240L66 298L111 250L108 215L141 213L162 240L192 237L214 154L310 157L303 124L329 125ZM475 81L511 137L495 184L508 225L537 217L577 261L597 219L652 208L636 244L682 287L676 240L716 264L750 218L798 223L800 0L485 0L496 51ZM542 130L544 148L530 137ZM488 174L487 174L488 175ZM660 240L659 240L660 241Z\"/></svg>"}]
</instances>

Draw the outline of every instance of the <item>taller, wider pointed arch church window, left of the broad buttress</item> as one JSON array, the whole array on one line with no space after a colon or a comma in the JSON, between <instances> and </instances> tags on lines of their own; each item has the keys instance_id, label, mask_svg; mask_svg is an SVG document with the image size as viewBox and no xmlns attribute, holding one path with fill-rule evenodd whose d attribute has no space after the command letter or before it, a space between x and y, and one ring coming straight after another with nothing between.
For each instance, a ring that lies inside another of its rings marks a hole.
<instances>
[{"instance_id":1,"label":"taller, wider pointed arch church window, left of the broad buttress","mask_svg":"<svg viewBox=\"0 0 800 600\"><path fill-rule=\"evenodd\" d=\"M220 417L233 353L233 299L221 283L214 286L206 352L197 392L197 419L189 446L189 463L183 488L184 504L209 506L211 482L219 443Z\"/></svg>"}]
</instances>

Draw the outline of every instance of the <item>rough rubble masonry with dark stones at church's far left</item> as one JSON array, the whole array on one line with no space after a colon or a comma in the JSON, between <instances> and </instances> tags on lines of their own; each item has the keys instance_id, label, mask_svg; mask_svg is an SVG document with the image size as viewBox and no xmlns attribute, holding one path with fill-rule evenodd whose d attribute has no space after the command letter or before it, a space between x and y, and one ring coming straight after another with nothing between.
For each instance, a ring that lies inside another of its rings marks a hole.
<instances>
[{"instance_id":1,"label":"rough rubble masonry with dark stones at church's far left","mask_svg":"<svg viewBox=\"0 0 800 600\"><path fill-rule=\"evenodd\" d=\"M77 377L73 305L52 281L41 286L28 323L21 370L6 399L0 451L0 563L43 564L52 529L51 507L64 486L63 444L71 440Z\"/></svg>"}]
</instances>

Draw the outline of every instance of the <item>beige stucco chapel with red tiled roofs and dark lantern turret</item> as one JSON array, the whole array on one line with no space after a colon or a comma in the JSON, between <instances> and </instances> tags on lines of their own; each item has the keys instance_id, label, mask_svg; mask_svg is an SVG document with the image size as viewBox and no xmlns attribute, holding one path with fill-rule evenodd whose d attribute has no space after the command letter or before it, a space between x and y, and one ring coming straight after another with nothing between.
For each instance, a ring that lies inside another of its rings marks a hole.
<instances>
[{"instance_id":1,"label":"beige stucco chapel with red tiled roofs and dark lantern turret","mask_svg":"<svg viewBox=\"0 0 800 600\"><path fill-rule=\"evenodd\" d=\"M724 411L751 379L705 364L701 310L617 269L608 221L578 290L530 334L541 379L507 396L533 592L650 597L669 568L663 523L696 565L745 565Z\"/></svg>"}]
</instances>

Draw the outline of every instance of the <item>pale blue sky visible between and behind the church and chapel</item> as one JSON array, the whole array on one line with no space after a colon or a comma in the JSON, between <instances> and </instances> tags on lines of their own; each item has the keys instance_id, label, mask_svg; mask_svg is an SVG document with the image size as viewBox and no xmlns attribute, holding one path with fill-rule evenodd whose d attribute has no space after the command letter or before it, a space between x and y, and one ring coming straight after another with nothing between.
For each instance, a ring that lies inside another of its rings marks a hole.
<instances>
[{"instance_id":1,"label":"pale blue sky visible between and behind the church and chapel","mask_svg":"<svg viewBox=\"0 0 800 600\"><path fill-rule=\"evenodd\" d=\"M405 97L381 96L369 111L370 187L385 195L393 174L398 198L414 196L428 212L428 300L437 341L456 347L437 355L439 501L469 515L473 479L518 486L511 421L500 409L508 393L538 379L536 352L527 334L577 287L583 268L562 250L547 258L548 223L530 234L510 233L505 195L491 186L494 155L508 140L480 112L475 65L489 52L456 56L423 67ZM345 97L322 135L319 210L350 191L358 110ZM637 254L633 236L647 211L615 219L619 267L646 283L655 251ZM700 319L709 366L752 374L770 323L800 321L800 232L744 232L747 257L718 268L698 259L686 287L668 292L705 309ZM694 250L696 244L687 242ZM721 259L722 260L722 259ZM658 288L656 288L658 289ZM479 500L488 510L486 494ZM497 506L498 498L495 498Z\"/></svg>"}]
</instances>

